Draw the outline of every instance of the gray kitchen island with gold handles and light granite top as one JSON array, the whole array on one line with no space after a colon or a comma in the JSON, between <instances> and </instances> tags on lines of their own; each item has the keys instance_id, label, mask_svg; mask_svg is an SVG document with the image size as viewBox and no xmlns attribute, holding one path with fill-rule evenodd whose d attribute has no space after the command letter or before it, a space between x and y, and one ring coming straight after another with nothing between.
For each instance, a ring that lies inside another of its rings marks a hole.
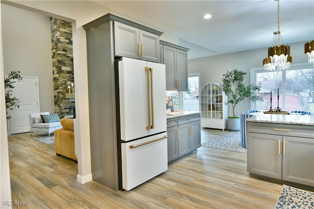
<instances>
[{"instance_id":1,"label":"gray kitchen island with gold handles and light granite top","mask_svg":"<svg viewBox=\"0 0 314 209\"><path fill-rule=\"evenodd\" d=\"M246 121L250 175L314 189L314 116L259 114Z\"/></svg>"}]
</instances>

